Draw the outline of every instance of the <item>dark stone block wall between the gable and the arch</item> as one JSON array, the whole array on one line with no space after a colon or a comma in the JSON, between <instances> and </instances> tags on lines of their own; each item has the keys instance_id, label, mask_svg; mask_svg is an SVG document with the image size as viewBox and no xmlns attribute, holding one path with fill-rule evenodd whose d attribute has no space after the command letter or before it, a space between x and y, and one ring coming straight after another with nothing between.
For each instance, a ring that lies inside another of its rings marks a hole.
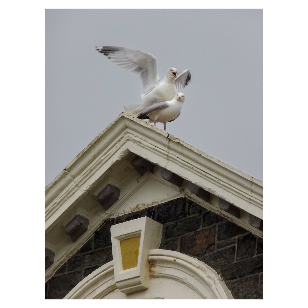
<instances>
[{"instance_id":1,"label":"dark stone block wall between the gable and the arch","mask_svg":"<svg viewBox=\"0 0 308 308\"><path fill-rule=\"evenodd\" d=\"M45 298L63 298L112 260L111 225L144 216L163 224L160 249L179 251L208 264L221 274L235 299L263 298L263 240L186 198L105 221L49 279Z\"/></svg>"}]
</instances>

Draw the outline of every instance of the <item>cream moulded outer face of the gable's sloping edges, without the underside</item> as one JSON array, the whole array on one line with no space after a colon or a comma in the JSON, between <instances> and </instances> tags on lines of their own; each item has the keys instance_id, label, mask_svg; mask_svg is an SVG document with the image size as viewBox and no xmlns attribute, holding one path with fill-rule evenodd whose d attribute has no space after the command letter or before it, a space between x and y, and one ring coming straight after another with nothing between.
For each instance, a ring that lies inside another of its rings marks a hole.
<instances>
[{"instance_id":1,"label":"cream moulded outer face of the gable's sloping edges, without the underside","mask_svg":"<svg viewBox=\"0 0 308 308\"><path fill-rule=\"evenodd\" d=\"M93 173L105 172L128 151L262 218L260 180L124 112L46 187L47 212L69 190L93 188Z\"/></svg>"}]
</instances>

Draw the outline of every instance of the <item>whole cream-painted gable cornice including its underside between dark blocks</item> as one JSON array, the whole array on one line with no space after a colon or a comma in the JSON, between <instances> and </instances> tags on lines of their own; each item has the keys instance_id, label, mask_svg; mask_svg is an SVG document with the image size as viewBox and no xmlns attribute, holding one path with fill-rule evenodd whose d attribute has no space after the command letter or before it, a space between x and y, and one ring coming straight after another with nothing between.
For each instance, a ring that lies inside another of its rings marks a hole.
<instances>
[{"instance_id":1,"label":"whole cream-painted gable cornice including its underside between dark blocks","mask_svg":"<svg viewBox=\"0 0 308 308\"><path fill-rule=\"evenodd\" d=\"M130 164L136 155L157 166L153 174L147 172L140 177ZM116 211L129 213L130 208L136 211L132 196L136 197L138 193L144 196L142 189L147 185L156 185L157 193L147 196L147 201L140 201L145 207L176 197L188 197L261 236L260 230L249 226L247 217L246 222L237 221L220 210L215 202L205 202L193 195L186 181L182 188L178 188L163 180L159 167L204 188L247 214L263 218L263 183L260 180L122 112L46 187L46 247L56 254L54 264L46 271L47 278L87 241L104 220L114 217ZM105 211L96 196L107 184L118 187L121 193L119 200ZM89 227L72 243L71 238L62 232L76 214L87 218Z\"/></svg>"}]
</instances>

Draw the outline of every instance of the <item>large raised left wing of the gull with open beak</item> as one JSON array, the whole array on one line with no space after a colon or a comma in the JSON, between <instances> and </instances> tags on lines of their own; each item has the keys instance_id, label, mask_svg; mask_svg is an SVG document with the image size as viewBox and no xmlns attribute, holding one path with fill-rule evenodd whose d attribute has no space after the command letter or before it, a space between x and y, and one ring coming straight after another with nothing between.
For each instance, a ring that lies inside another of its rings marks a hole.
<instances>
[{"instance_id":1,"label":"large raised left wing of the gull with open beak","mask_svg":"<svg viewBox=\"0 0 308 308\"><path fill-rule=\"evenodd\" d=\"M138 75L142 99L159 84L156 59L147 52L114 46L100 46L96 47L96 50L107 56L113 63Z\"/></svg>"}]
</instances>

